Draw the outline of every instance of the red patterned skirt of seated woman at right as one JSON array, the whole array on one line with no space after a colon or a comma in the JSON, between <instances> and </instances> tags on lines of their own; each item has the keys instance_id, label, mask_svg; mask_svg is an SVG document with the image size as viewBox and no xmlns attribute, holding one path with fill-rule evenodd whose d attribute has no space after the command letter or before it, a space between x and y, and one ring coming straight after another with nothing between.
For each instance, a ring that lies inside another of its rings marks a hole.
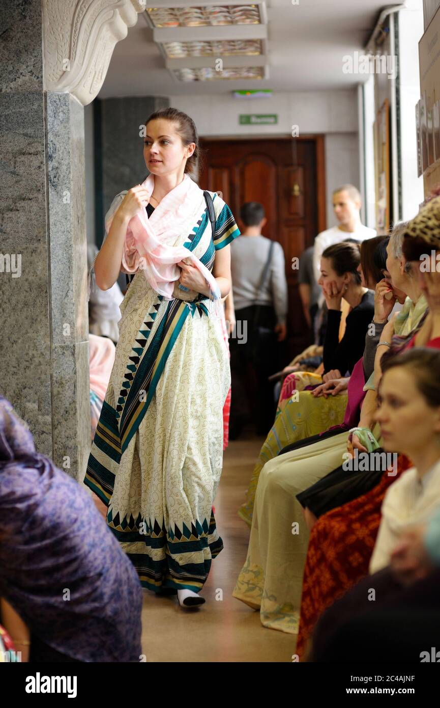
<instances>
[{"instance_id":1,"label":"red patterned skirt of seated woman at right","mask_svg":"<svg viewBox=\"0 0 440 708\"><path fill-rule=\"evenodd\" d=\"M399 455L395 476L384 472L374 489L344 506L332 509L313 526L304 569L296 644L296 653L300 658L323 611L368 575L369 561L381 523L383 497L388 487L409 467L410 460Z\"/></svg>"}]
</instances>

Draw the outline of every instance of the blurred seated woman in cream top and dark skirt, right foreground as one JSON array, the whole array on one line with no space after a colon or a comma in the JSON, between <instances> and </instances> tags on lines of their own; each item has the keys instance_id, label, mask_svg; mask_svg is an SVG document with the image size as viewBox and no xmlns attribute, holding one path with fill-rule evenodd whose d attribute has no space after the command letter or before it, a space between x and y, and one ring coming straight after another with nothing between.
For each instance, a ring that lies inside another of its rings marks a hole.
<instances>
[{"instance_id":1,"label":"blurred seated woman in cream top and dark skirt, right foreground","mask_svg":"<svg viewBox=\"0 0 440 708\"><path fill-rule=\"evenodd\" d=\"M419 661L421 649L435 646L433 630L439 631L439 623L431 626L432 641L424 644L419 623L409 624L415 612L426 612L425 627L429 629L429 617L432 622L439 617L440 610L440 573L429 578L435 566L440 568L439 351L413 349L388 360L379 397L381 406L376 417L383 433L383 446L405 453L414 467L390 486L383 501L381 525L370 562L374 575L360 581L318 622L312 651L316 661L351 661L347 646L350 657L354 651L358 661L366 658L363 645L366 641L371 650L370 622L378 632L375 647L387 642L386 632L393 627L394 649L399 651L398 644L403 641L406 653L401 656L405 661ZM412 586L409 592L407 586ZM375 591L375 602L371 602L371 589ZM395 622L391 620L396 609L400 614L406 610L403 633L397 637ZM387 610L391 610L388 616ZM354 627L358 632L354 632ZM342 638L347 640L348 636L350 641L344 644ZM408 649L415 651L414 655ZM374 656L377 660L376 649ZM395 660L394 651L392 656Z\"/></svg>"}]
</instances>

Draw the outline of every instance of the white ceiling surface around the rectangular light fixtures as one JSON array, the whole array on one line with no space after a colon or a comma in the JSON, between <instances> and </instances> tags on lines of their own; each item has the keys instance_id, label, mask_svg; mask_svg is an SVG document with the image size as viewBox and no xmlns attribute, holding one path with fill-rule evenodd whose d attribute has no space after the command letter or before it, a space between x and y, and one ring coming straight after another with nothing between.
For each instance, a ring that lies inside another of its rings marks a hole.
<instances>
[{"instance_id":1,"label":"white ceiling surface around the rectangular light fixtures","mask_svg":"<svg viewBox=\"0 0 440 708\"><path fill-rule=\"evenodd\" d=\"M179 3L181 4L181 3ZM188 0L186 6L201 6ZM227 4L225 2L224 4ZM384 7L383 0L266 0L270 77L261 80L177 82L153 41L144 16L117 42L99 98L227 93L237 89L320 91L349 89L365 80L342 72L342 57L361 52ZM156 6L173 6L160 1ZM193 28L197 38L197 28Z\"/></svg>"}]
</instances>

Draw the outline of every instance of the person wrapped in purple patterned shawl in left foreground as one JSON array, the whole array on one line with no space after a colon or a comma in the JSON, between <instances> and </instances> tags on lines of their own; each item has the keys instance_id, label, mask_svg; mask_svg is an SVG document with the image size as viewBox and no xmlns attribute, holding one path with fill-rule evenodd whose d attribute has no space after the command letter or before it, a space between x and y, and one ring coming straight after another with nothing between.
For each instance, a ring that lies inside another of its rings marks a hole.
<instances>
[{"instance_id":1,"label":"person wrapped in purple patterned shawl in left foreground","mask_svg":"<svg viewBox=\"0 0 440 708\"><path fill-rule=\"evenodd\" d=\"M132 562L88 493L35 451L1 396L0 598L29 629L31 662L139 661Z\"/></svg>"}]
</instances>

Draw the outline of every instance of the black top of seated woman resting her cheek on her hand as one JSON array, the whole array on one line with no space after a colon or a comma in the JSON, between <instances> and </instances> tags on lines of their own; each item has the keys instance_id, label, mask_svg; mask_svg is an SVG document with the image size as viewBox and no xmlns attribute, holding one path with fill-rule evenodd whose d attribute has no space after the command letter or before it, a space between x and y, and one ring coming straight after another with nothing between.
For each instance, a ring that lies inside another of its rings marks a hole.
<instances>
[{"instance_id":1,"label":"black top of seated woman resting her cheek on her hand","mask_svg":"<svg viewBox=\"0 0 440 708\"><path fill-rule=\"evenodd\" d=\"M338 341L342 313L329 310L324 341L324 372L339 369L342 376L361 358L365 348L365 335L374 316L374 295L366 292L362 302L347 316L345 334Z\"/></svg>"}]
</instances>

